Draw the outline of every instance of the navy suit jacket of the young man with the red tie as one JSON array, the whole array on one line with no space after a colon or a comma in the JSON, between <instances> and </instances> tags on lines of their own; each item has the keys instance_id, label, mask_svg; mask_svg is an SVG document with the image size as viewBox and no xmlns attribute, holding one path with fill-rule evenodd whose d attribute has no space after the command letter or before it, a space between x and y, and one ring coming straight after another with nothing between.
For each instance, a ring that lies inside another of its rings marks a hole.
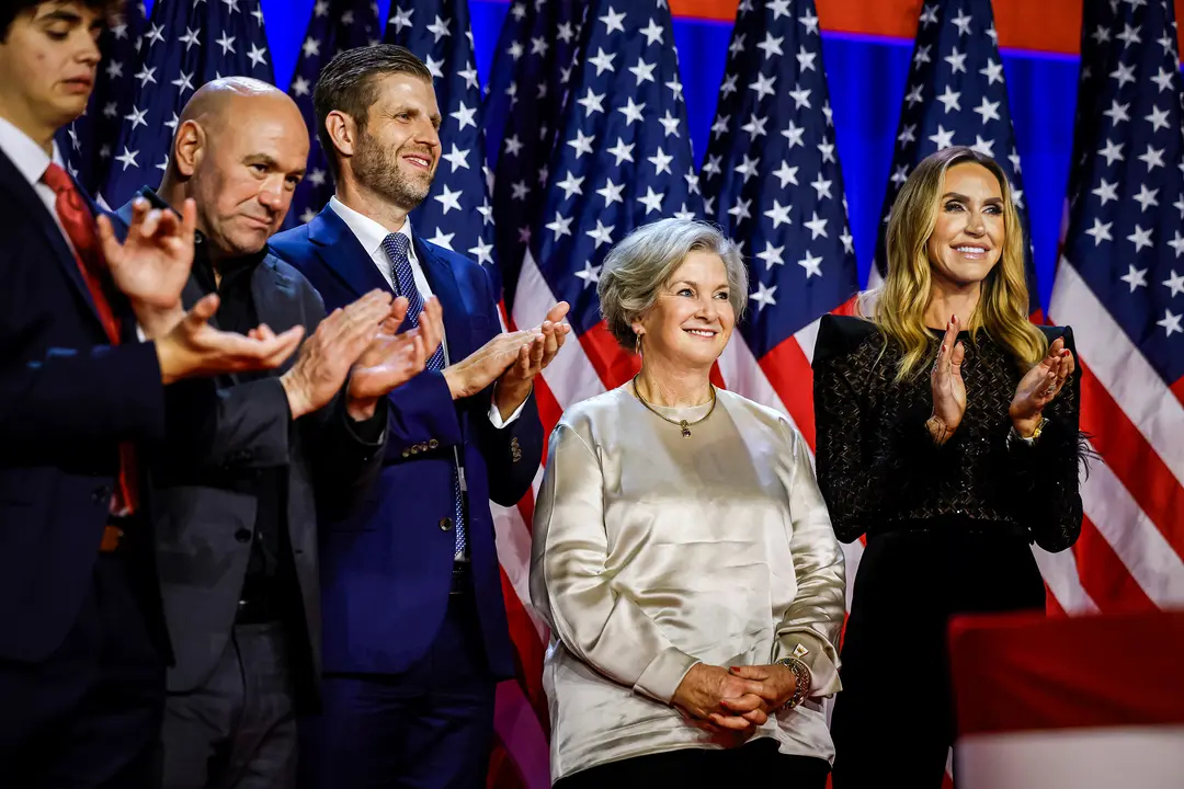
<instances>
[{"instance_id":1,"label":"navy suit jacket of the young man with the red tie","mask_svg":"<svg viewBox=\"0 0 1184 789\"><path fill-rule=\"evenodd\" d=\"M2 153L0 205L0 659L40 661L90 588L118 444L163 434L165 387L155 345L108 344L53 215Z\"/></svg>"}]
</instances>

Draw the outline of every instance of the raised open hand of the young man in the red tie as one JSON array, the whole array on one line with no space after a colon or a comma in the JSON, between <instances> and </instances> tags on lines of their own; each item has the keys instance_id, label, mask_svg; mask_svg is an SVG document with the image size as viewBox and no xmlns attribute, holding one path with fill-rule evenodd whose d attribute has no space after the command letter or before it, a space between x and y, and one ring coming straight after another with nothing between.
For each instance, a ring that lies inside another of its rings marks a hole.
<instances>
[{"instance_id":1,"label":"raised open hand of the young man in the red tie","mask_svg":"<svg viewBox=\"0 0 1184 789\"><path fill-rule=\"evenodd\" d=\"M122 244L107 216L97 220L98 241L111 279L128 297L148 337L163 335L185 313L181 290L193 267L197 215L193 200L186 200L178 215L170 208L153 208L147 200L136 199Z\"/></svg>"}]
</instances>

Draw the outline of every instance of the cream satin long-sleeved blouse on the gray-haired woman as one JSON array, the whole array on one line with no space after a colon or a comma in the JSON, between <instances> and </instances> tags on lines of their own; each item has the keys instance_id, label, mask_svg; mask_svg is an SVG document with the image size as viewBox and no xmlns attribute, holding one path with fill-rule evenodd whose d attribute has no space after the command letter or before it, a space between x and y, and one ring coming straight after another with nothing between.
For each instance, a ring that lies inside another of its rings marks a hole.
<instances>
[{"instance_id":1,"label":"cream satin long-sleeved blouse on the gray-haired woman","mask_svg":"<svg viewBox=\"0 0 1184 789\"><path fill-rule=\"evenodd\" d=\"M718 401L683 436L626 384L568 408L551 436L530 597L552 629L553 780L722 748L670 706L690 667L802 649L811 699L754 737L834 756L818 700L839 690L843 555L802 435L740 395L720 390ZM693 422L708 408L659 410Z\"/></svg>"}]
</instances>

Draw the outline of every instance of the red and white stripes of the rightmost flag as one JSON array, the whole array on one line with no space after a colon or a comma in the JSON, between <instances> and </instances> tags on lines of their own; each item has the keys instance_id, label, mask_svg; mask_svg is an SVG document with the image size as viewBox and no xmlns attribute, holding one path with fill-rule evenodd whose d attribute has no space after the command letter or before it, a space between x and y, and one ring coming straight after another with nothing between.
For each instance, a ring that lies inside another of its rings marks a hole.
<instances>
[{"instance_id":1,"label":"red and white stripes of the rightmost flag","mask_svg":"<svg viewBox=\"0 0 1184 789\"><path fill-rule=\"evenodd\" d=\"M1081 429L1100 458L1081 481L1086 518L1073 548L1080 591L1063 586L1062 597L1054 589L1057 603L1068 613L1184 604L1179 387L1164 383L1064 259L1049 318L1073 326L1083 368Z\"/></svg>"}]
</instances>

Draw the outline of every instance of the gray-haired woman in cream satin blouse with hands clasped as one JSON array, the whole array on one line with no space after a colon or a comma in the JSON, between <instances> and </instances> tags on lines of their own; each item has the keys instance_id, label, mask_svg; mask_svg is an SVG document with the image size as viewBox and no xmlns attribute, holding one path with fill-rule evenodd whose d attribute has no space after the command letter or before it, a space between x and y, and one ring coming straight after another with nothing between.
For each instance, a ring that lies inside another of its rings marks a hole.
<instances>
[{"instance_id":1,"label":"gray-haired woman in cream satin blouse with hands clasped","mask_svg":"<svg viewBox=\"0 0 1184 789\"><path fill-rule=\"evenodd\" d=\"M610 252L599 296L642 369L551 438L530 596L552 628L552 777L821 788L843 557L802 435L710 383L745 308L740 254L658 221Z\"/></svg>"}]
</instances>

